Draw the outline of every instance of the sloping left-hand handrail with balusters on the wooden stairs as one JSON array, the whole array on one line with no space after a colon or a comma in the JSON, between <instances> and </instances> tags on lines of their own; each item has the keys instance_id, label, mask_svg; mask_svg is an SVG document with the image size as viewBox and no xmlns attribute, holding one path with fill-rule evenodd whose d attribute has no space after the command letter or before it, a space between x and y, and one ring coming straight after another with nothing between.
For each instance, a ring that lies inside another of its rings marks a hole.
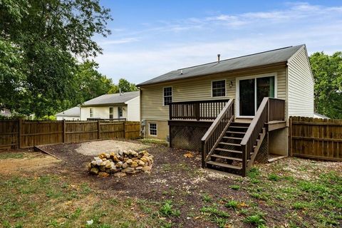
<instances>
[{"instance_id":1,"label":"sloping left-hand handrail with balusters on the wooden stairs","mask_svg":"<svg viewBox=\"0 0 342 228\"><path fill-rule=\"evenodd\" d=\"M217 115L217 118L202 137L202 167L206 167L208 157L224 136L232 120L234 120L234 99L229 99L228 103L219 115Z\"/></svg>"}]
</instances>

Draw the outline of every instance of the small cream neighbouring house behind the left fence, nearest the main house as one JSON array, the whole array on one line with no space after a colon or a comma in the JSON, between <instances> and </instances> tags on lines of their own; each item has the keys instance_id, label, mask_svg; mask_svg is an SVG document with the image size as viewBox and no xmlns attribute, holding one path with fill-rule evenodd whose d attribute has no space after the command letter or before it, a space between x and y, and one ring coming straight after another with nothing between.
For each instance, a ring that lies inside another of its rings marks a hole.
<instances>
[{"instance_id":1,"label":"small cream neighbouring house behind the left fence, nearest the main house","mask_svg":"<svg viewBox=\"0 0 342 228\"><path fill-rule=\"evenodd\" d=\"M81 105L81 120L123 119L140 121L140 93L104 94Z\"/></svg>"}]
</instances>

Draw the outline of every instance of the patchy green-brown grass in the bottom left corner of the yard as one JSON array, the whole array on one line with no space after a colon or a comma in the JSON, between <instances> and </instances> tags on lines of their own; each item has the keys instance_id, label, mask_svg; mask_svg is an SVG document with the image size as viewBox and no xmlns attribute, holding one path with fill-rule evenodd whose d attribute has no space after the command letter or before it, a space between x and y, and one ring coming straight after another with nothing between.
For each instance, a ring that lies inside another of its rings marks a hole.
<instances>
[{"instance_id":1,"label":"patchy green-brown grass in the bottom left corner of the yard","mask_svg":"<svg viewBox=\"0 0 342 228\"><path fill-rule=\"evenodd\" d=\"M137 227L140 223L125 209L125 201L113 201L86 184L71 185L56 175L1 176L0 191L0 227L83 227L90 219L93 224L88 227Z\"/></svg>"}]
</instances>

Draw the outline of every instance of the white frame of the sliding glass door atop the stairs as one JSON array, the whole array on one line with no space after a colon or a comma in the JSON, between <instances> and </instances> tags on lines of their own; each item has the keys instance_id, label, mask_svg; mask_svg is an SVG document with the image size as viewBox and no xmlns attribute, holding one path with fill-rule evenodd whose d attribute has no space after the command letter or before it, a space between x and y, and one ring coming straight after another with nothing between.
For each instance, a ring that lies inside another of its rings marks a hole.
<instances>
[{"instance_id":1,"label":"white frame of the sliding glass door atop the stairs","mask_svg":"<svg viewBox=\"0 0 342 228\"><path fill-rule=\"evenodd\" d=\"M254 115L240 115L240 81L246 80L246 79L257 79L257 78L266 78L274 76L274 98L278 98L278 74L276 72L274 73L263 73L263 74L257 74L254 76L245 76L245 77L239 77L236 78L235 88L236 88L236 94L235 94L235 100L236 100L236 116L237 118L254 118ZM257 113L257 83L254 83L254 113Z\"/></svg>"}]
</instances>

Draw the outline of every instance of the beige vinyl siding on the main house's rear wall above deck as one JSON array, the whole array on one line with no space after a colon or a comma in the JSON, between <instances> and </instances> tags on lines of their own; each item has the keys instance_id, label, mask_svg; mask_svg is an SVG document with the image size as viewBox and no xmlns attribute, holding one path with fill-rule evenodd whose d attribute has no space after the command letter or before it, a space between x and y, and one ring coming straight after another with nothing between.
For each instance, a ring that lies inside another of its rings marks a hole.
<instances>
[{"instance_id":1,"label":"beige vinyl siding on the main house's rear wall above deck","mask_svg":"<svg viewBox=\"0 0 342 228\"><path fill-rule=\"evenodd\" d=\"M277 75L277 97L286 99L286 66L271 68L259 68L251 71L234 73L216 73L209 76L202 76L182 81L160 83L140 88L141 119L142 120L168 120L169 108L163 105L163 88L172 86L172 102L189 100L217 100L235 99L236 78L245 76L257 76L267 73ZM226 97L212 97L212 81L226 80ZM232 88L229 87L233 82Z\"/></svg>"}]
</instances>

